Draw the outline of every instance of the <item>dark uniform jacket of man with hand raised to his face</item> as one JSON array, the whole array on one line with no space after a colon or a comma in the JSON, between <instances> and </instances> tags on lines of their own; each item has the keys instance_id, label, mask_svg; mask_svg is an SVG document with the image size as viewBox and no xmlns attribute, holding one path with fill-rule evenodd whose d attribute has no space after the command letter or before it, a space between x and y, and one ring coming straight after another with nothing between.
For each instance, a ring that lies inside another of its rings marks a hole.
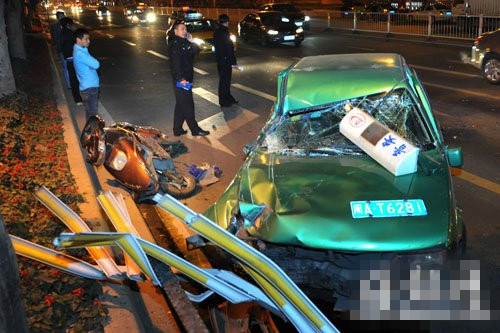
<instances>
[{"instance_id":1,"label":"dark uniform jacket of man with hand raised to his face","mask_svg":"<svg viewBox=\"0 0 500 333\"><path fill-rule=\"evenodd\" d=\"M193 82L193 59L198 52L200 52L198 45L191 43L187 38L176 35L169 37L168 57L175 82L182 80Z\"/></svg>"}]
</instances>

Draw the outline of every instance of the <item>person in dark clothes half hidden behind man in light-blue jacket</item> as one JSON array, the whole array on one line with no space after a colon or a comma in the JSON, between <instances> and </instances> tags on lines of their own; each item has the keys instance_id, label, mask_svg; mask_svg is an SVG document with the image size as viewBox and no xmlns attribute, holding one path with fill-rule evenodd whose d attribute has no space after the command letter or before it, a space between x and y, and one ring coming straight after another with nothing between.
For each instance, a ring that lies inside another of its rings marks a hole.
<instances>
[{"instance_id":1,"label":"person in dark clothes half hidden behind man in light-blue jacket","mask_svg":"<svg viewBox=\"0 0 500 333\"><path fill-rule=\"evenodd\" d=\"M79 83L78 79L76 78L75 66L73 66L73 45L75 45L75 33L73 32L75 28L73 25L73 20L69 17L63 17L60 22L63 27L61 46L64 60L66 61L66 66L68 68L71 93L76 105L82 105Z\"/></svg>"}]
</instances>

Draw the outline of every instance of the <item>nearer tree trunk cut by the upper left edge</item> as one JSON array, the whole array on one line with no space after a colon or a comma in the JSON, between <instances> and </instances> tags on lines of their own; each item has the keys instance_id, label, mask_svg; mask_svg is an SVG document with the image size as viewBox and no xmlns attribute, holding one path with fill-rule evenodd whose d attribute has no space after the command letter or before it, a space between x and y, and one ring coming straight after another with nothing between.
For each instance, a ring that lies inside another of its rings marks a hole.
<instances>
[{"instance_id":1,"label":"nearer tree trunk cut by the upper left edge","mask_svg":"<svg viewBox=\"0 0 500 333\"><path fill-rule=\"evenodd\" d=\"M16 90L12 66L10 65L9 46L5 33L5 1L0 0L0 97Z\"/></svg>"}]
</instances>

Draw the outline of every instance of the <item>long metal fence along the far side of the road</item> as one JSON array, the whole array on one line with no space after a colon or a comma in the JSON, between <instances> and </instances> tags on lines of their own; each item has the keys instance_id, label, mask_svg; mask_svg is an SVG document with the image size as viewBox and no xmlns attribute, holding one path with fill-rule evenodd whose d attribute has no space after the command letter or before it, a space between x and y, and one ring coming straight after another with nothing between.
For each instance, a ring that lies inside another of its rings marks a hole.
<instances>
[{"instance_id":1,"label":"long metal fence along the far side of the road","mask_svg":"<svg viewBox=\"0 0 500 333\"><path fill-rule=\"evenodd\" d=\"M227 14L233 23L241 21L254 9L192 8L206 18L216 19ZM156 7L156 13L171 15L182 7ZM434 15L414 13L363 13L314 10L306 11L312 27L336 28L351 31L381 32L424 37L471 40L480 34L500 28L499 16Z\"/></svg>"}]
</instances>

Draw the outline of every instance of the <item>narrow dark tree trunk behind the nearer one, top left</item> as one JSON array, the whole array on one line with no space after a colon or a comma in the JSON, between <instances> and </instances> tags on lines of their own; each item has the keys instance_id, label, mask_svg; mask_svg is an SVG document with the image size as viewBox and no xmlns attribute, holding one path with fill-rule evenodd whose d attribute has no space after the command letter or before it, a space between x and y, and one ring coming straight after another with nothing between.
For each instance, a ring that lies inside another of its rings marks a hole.
<instances>
[{"instance_id":1,"label":"narrow dark tree trunk behind the nearer one, top left","mask_svg":"<svg viewBox=\"0 0 500 333\"><path fill-rule=\"evenodd\" d=\"M7 31L9 34L9 52L12 58L26 59L24 49L22 0L7 0Z\"/></svg>"}]
</instances>

